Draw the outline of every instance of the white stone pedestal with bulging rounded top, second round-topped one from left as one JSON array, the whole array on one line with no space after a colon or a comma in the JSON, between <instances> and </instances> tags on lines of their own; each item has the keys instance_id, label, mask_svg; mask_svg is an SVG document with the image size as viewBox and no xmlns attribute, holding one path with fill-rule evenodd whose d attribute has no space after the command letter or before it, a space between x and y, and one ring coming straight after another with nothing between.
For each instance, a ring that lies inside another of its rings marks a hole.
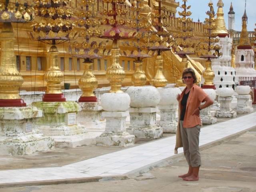
<instances>
[{"instance_id":1,"label":"white stone pedestal with bulging rounded top, second round-topped one from left","mask_svg":"<svg viewBox=\"0 0 256 192\"><path fill-rule=\"evenodd\" d=\"M160 102L158 90L153 86L137 86L129 87L126 93L131 98L127 132L139 139L161 138L163 130L156 125L156 106Z\"/></svg>"}]
</instances>

